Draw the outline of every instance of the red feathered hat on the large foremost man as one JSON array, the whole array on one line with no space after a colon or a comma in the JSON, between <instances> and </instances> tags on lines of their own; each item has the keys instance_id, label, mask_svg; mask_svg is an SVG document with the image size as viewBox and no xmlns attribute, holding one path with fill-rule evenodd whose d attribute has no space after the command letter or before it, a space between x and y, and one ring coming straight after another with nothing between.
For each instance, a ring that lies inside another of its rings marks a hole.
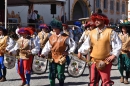
<instances>
[{"instance_id":1,"label":"red feathered hat on the large foremost man","mask_svg":"<svg viewBox=\"0 0 130 86\"><path fill-rule=\"evenodd\" d=\"M94 21L94 22L96 21L96 19L101 19L101 20L104 21L104 23L105 23L106 25L109 24L109 19L108 19L108 17L107 17L105 14L102 13L102 10L101 10L101 9L98 9L97 13L93 13L93 14L91 15L91 19L92 19L92 21Z\"/></svg>"}]
</instances>

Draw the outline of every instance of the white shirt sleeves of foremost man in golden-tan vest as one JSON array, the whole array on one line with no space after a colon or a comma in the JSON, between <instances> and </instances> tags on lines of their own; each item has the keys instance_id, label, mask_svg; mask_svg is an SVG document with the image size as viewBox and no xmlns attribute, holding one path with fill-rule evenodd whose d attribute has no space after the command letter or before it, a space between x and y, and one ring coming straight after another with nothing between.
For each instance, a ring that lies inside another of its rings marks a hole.
<instances>
[{"instance_id":1,"label":"white shirt sleeves of foremost man in golden-tan vest","mask_svg":"<svg viewBox=\"0 0 130 86\"><path fill-rule=\"evenodd\" d=\"M96 28L96 30L98 30L98 28ZM116 57L118 57L121 51L122 42L115 31L112 31L110 44L112 45L112 51L110 52L110 55L115 55ZM90 47L91 47L91 42L90 42L90 37L88 35L87 39L85 40L83 45L80 47L78 52L86 55Z\"/></svg>"}]
</instances>

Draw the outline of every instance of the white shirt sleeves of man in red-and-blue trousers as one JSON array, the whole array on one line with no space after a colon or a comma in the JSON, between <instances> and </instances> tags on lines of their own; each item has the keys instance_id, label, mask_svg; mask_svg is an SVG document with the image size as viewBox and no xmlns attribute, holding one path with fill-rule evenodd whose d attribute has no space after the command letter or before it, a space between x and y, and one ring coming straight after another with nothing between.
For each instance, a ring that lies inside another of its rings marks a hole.
<instances>
[{"instance_id":1,"label":"white shirt sleeves of man in red-and-blue trousers","mask_svg":"<svg viewBox=\"0 0 130 86\"><path fill-rule=\"evenodd\" d=\"M22 38L22 37L20 37ZM39 53L40 50L40 41L38 37L35 38L31 38L29 41L29 45L31 46L31 44L34 44L34 48L31 50L32 54L37 54ZM18 50L20 48L20 46L18 45L18 43L15 44L14 48L10 50L10 52L12 52L14 55L16 54L16 50Z\"/></svg>"}]
</instances>

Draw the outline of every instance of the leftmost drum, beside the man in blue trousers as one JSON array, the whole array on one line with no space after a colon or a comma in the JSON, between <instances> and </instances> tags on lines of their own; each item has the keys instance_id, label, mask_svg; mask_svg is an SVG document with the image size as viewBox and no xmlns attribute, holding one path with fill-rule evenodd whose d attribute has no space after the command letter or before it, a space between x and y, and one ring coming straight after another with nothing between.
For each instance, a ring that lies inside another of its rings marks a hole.
<instances>
[{"instance_id":1,"label":"leftmost drum, beside the man in blue trousers","mask_svg":"<svg viewBox=\"0 0 130 86\"><path fill-rule=\"evenodd\" d=\"M9 54L4 54L4 65L7 69L14 68L15 62L16 62L15 56L10 56Z\"/></svg>"}]
</instances>

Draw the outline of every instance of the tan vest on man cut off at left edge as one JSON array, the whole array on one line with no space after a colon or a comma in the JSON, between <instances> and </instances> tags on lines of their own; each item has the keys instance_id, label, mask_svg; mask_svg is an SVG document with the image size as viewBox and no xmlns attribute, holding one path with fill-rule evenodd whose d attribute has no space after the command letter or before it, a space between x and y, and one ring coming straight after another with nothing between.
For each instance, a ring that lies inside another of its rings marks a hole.
<instances>
[{"instance_id":1,"label":"tan vest on man cut off at left edge","mask_svg":"<svg viewBox=\"0 0 130 86\"><path fill-rule=\"evenodd\" d=\"M8 36L4 36L0 39L0 56L3 56L7 47Z\"/></svg>"}]
</instances>

